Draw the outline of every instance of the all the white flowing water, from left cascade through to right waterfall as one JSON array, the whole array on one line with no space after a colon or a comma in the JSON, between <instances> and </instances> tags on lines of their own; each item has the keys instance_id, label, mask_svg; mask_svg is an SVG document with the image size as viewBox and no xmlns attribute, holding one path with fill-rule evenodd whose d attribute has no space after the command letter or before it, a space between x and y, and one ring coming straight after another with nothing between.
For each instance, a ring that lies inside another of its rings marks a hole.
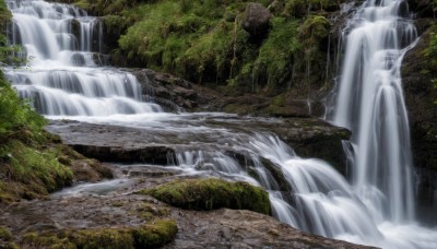
<instances>
[{"instance_id":1,"label":"all the white flowing water, from left cascade through to right waterfall","mask_svg":"<svg viewBox=\"0 0 437 249\"><path fill-rule=\"evenodd\" d=\"M15 23L11 40L23 44L33 59L28 68L7 69L7 75L49 118L134 127L167 143L173 141L161 133L187 140L175 145L166 168L262 186L273 215L292 226L385 248L437 248L437 233L413 217L399 66L415 31L397 15L401 2L367 1L351 21L334 121L354 132L352 185L327 163L299 158L275 135L252 132L235 116L156 112L160 107L144 102L134 76L98 67L93 59L101 47L98 22L70 5L8 1ZM106 192L114 185L97 187Z\"/></svg>"}]
</instances>

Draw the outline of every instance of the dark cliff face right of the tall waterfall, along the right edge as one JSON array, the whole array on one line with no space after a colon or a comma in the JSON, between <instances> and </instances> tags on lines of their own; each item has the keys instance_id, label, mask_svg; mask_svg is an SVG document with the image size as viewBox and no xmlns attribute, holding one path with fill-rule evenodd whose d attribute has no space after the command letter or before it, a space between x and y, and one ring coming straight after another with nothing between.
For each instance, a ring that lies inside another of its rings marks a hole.
<instances>
[{"instance_id":1,"label":"dark cliff face right of the tall waterfall, along the right edge","mask_svg":"<svg viewBox=\"0 0 437 249\"><path fill-rule=\"evenodd\" d=\"M421 180L418 198L424 206L433 206L437 188L437 58L433 44L437 28L433 1L409 3L416 15L421 39L403 60L403 88L410 115L413 163Z\"/></svg>"}]
</instances>

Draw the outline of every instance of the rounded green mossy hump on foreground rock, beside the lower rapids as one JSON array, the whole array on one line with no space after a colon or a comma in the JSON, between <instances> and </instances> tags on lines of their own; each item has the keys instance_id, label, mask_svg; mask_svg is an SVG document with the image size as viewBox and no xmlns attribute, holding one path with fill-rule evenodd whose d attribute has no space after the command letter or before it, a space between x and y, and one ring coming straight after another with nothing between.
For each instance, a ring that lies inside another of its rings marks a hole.
<instances>
[{"instance_id":1,"label":"rounded green mossy hump on foreground rock, beside the lower rapids","mask_svg":"<svg viewBox=\"0 0 437 249\"><path fill-rule=\"evenodd\" d=\"M140 193L150 194L169 205L209 211L222 208L250 210L270 214L270 201L265 190L248 182L229 182L221 179L175 180Z\"/></svg>"}]
</instances>

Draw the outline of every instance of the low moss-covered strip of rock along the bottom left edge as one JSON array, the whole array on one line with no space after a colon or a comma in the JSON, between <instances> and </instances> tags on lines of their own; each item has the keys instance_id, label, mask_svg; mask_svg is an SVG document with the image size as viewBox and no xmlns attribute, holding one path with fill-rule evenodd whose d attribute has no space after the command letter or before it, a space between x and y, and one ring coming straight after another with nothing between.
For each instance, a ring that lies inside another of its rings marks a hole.
<instances>
[{"instance_id":1,"label":"low moss-covered strip of rock along the bottom left edge","mask_svg":"<svg viewBox=\"0 0 437 249\"><path fill-rule=\"evenodd\" d=\"M158 248L170 242L178 232L174 220L129 228L92 228L54 233L29 233L22 246L31 248Z\"/></svg>"}]
</instances>

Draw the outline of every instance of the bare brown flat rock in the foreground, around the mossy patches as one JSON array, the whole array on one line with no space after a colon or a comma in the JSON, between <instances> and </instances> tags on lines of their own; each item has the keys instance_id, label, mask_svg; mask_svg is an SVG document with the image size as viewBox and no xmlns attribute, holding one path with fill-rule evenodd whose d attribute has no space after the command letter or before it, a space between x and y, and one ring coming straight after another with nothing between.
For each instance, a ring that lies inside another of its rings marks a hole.
<instances>
[{"instance_id":1,"label":"bare brown flat rock in the foreground, around the mossy patches","mask_svg":"<svg viewBox=\"0 0 437 249\"><path fill-rule=\"evenodd\" d=\"M367 248L306 234L250 211L187 211L134 193L175 178L132 178L104 195L66 194L66 190L50 200L0 206L0 226L9 228L16 241L23 234L33 232L132 227L153 221L142 214L146 206L156 218L174 218L178 225L176 239L164 248Z\"/></svg>"}]
</instances>

